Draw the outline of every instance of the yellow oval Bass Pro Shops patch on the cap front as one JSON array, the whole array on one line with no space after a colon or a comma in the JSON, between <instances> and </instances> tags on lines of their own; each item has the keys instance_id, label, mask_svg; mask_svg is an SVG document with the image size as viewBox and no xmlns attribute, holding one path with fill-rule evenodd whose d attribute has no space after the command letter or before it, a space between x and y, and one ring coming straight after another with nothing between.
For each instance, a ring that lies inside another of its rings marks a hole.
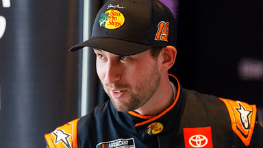
<instances>
[{"instance_id":1,"label":"yellow oval Bass Pro Shops patch on the cap front","mask_svg":"<svg viewBox=\"0 0 263 148\"><path fill-rule=\"evenodd\" d=\"M105 27L107 29L117 29L121 27L125 22L125 18L118 10L108 10L101 14L99 18L99 27Z\"/></svg>"}]
</instances>

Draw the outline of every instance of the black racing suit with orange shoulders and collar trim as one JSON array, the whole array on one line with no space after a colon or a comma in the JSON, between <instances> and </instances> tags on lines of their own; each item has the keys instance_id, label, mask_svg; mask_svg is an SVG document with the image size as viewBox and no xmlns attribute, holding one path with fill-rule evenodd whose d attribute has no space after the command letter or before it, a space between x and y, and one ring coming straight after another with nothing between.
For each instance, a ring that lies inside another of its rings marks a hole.
<instances>
[{"instance_id":1,"label":"black racing suit with orange shoulders and collar trim","mask_svg":"<svg viewBox=\"0 0 263 148\"><path fill-rule=\"evenodd\" d=\"M106 101L46 134L47 147L262 147L255 105L186 90L169 78L177 88L175 101L158 116L117 112Z\"/></svg>"}]
</instances>

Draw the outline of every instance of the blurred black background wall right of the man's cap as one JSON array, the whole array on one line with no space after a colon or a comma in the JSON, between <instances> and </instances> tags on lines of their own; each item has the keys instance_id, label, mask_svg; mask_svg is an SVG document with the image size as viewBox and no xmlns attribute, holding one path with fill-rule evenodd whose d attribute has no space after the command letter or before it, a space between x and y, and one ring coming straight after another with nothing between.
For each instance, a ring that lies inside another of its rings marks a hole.
<instances>
[{"instance_id":1,"label":"blurred black background wall right of the man's cap","mask_svg":"<svg viewBox=\"0 0 263 148\"><path fill-rule=\"evenodd\" d=\"M262 107L262 1L179 1L176 48L184 88Z\"/></svg>"}]
</instances>

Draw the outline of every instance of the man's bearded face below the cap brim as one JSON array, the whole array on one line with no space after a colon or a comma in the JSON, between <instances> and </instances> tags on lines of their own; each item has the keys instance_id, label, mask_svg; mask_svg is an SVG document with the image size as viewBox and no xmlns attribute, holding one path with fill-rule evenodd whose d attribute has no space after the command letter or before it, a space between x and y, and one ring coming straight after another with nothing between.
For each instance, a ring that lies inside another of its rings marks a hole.
<instances>
[{"instance_id":1,"label":"man's bearded face below the cap brim","mask_svg":"<svg viewBox=\"0 0 263 148\"><path fill-rule=\"evenodd\" d=\"M116 110L128 112L142 107L160 86L158 60L150 56L150 50L134 56L94 51L99 79Z\"/></svg>"}]
</instances>

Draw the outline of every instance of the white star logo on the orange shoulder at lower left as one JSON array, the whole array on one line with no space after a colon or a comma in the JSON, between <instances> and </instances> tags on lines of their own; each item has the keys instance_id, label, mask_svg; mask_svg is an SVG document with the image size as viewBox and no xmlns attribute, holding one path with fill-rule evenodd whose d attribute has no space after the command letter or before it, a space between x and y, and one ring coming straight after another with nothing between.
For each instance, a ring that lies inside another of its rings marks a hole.
<instances>
[{"instance_id":1,"label":"white star logo on the orange shoulder at lower left","mask_svg":"<svg viewBox=\"0 0 263 148\"><path fill-rule=\"evenodd\" d=\"M55 145L61 141L66 147L72 148L68 141L68 138L71 137L70 134L67 134L64 130L57 129L53 132L53 135L55 136Z\"/></svg>"}]
</instances>

